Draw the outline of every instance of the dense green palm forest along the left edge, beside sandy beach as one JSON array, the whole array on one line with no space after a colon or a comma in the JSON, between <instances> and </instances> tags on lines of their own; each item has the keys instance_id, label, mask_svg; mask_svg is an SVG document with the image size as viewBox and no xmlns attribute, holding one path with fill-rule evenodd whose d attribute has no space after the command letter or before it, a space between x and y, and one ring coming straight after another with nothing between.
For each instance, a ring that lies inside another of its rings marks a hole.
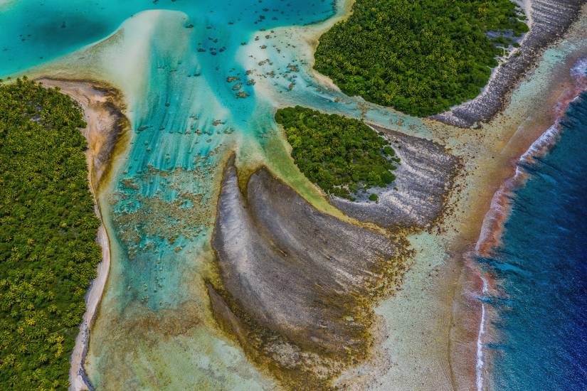
<instances>
[{"instance_id":1,"label":"dense green palm forest along the left edge, beside sandy beach","mask_svg":"<svg viewBox=\"0 0 587 391\"><path fill-rule=\"evenodd\" d=\"M0 389L66 390L100 247L78 105L0 83Z\"/></svg>"}]
</instances>

